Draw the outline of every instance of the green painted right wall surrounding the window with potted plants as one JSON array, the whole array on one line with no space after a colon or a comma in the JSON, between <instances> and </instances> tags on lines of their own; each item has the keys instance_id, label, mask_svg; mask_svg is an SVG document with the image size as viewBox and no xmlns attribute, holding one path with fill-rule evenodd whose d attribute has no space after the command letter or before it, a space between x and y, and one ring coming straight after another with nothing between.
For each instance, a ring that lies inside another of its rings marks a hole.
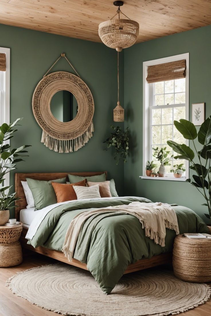
<instances>
[{"instance_id":1,"label":"green painted right wall surrounding the window with potted plants","mask_svg":"<svg viewBox=\"0 0 211 316\"><path fill-rule=\"evenodd\" d=\"M193 209L207 222L203 197L188 183L140 179L142 175L143 62L189 52L189 105L206 102L211 115L210 70L211 26L136 44L124 51L125 127L131 128L132 151L125 165L125 194L144 196L152 201L177 203Z\"/></svg>"}]
</instances>

